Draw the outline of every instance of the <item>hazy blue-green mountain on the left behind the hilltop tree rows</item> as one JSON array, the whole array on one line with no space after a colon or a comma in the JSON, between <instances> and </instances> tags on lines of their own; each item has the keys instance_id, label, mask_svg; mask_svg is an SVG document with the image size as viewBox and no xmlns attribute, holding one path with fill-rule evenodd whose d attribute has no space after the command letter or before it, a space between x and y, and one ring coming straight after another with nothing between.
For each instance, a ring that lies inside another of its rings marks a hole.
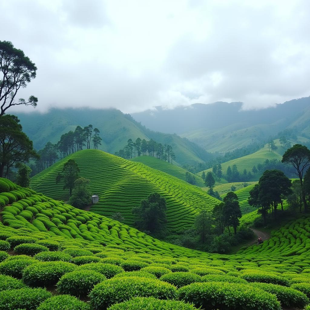
<instances>
[{"instance_id":1,"label":"hazy blue-green mountain on the left behind the hilltop tree rows","mask_svg":"<svg viewBox=\"0 0 310 310\"><path fill-rule=\"evenodd\" d=\"M175 134L155 132L136 122L129 114L117 109L51 109L48 113L15 113L20 118L24 132L33 140L34 148L42 149L50 141L57 143L60 136L76 126L92 124L100 130L100 149L115 153L124 148L128 139L153 139L158 143L170 144L175 152L175 162L194 164L209 160L212 155L188 139Z\"/></svg>"}]
</instances>

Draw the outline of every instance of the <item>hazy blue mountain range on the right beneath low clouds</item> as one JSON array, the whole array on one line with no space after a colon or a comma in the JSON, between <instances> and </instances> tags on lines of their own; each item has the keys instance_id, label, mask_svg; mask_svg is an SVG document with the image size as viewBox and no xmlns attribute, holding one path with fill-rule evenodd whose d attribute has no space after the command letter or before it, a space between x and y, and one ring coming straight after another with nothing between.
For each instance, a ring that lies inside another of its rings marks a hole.
<instances>
[{"instance_id":1,"label":"hazy blue mountain range on the right beneath low clouds","mask_svg":"<svg viewBox=\"0 0 310 310\"><path fill-rule=\"evenodd\" d=\"M310 97L261 110L242 110L241 102L215 102L173 110L156 107L132 116L152 130L177 133L209 152L224 153L287 128L310 137Z\"/></svg>"}]
</instances>

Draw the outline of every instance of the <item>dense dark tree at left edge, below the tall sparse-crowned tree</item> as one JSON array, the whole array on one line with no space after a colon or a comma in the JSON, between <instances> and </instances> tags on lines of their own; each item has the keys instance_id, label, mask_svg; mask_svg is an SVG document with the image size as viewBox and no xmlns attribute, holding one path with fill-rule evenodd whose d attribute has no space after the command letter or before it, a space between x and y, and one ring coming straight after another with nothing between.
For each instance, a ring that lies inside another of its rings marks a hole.
<instances>
[{"instance_id":1,"label":"dense dark tree at left edge, below the tall sparse-crowned tree","mask_svg":"<svg viewBox=\"0 0 310 310\"><path fill-rule=\"evenodd\" d=\"M16 163L29 162L38 158L38 154L33 150L32 141L22 132L16 116L6 114L0 120L0 177L3 177Z\"/></svg>"}]
</instances>

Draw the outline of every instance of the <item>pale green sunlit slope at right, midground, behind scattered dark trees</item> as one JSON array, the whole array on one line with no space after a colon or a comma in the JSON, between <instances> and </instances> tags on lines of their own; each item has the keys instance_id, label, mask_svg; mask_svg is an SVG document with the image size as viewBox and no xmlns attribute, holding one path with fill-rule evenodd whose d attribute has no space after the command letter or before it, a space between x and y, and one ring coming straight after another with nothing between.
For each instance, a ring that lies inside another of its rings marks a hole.
<instances>
[{"instance_id":1,"label":"pale green sunlit slope at right, midground, behind scattered dark trees","mask_svg":"<svg viewBox=\"0 0 310 310\"><path fill-rule=\"evenodd\" d=\"M275 140L275 143L280 148L278 140ZM237 169L240 173L242 173L244 169L246 169L248 172L249 171L252 172L253 166L257 166L257 164L259 163L262 164L266 159L281 160L282 156L278 152L274 152L274 153L269 152L268 146L266 144L263 148L261 148L260 150L258 150L257 152L253 154L246 155L246 156L236 158L236 159L232 159L228 162L224 162L221 165L222 165L223 173L226 173L228 166L232 168L233 165L237 165ZM205 173L207 173L209 171L212 171L212 168L204 170L204 171ZM201 175L201 174L202 174L202 171L198 173L198 175ZM255 179L258 179L256 175L254 175L253 179L250 181L254 181Z\"/></svg>"}]
</instances>

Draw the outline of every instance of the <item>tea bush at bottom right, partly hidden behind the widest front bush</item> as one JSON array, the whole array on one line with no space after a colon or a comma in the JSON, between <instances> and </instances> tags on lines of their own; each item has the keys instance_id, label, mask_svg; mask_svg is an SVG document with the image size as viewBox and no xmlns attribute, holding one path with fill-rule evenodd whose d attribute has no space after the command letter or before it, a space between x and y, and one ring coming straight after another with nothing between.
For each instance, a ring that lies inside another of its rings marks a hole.
<instances>
[{"instance_id":1,"label":"tea bush at bottom right, partly hidden behind the widest front bush","mask_svg":"<svg viewBox=\"0 0 310 310\"><path fill-rule=\"evenodd\" d=\"M278 301L287 307L302 308L309 303L309 299L305 294L290 287L270 283L253 283L253 286L265 292L275 294Z\"/></svg>"}]
</instances>

